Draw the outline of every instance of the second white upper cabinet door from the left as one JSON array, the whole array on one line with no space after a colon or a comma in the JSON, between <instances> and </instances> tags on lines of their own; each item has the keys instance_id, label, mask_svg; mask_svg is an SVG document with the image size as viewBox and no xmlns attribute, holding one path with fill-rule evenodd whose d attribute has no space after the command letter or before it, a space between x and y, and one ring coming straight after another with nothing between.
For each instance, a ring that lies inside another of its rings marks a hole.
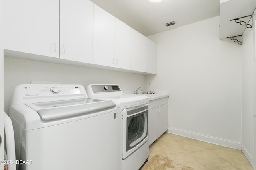
<instances>
[{"instance_id":1,"label":"second white upper cabinet door from the left","mask_svg":"<svg viewBox=\"0 0 256 170\"><path fill-rule=\"evenodd\" d=\"M92 64L93 3L60 0L60 58Z\"/></svg>"}]
</instances>

